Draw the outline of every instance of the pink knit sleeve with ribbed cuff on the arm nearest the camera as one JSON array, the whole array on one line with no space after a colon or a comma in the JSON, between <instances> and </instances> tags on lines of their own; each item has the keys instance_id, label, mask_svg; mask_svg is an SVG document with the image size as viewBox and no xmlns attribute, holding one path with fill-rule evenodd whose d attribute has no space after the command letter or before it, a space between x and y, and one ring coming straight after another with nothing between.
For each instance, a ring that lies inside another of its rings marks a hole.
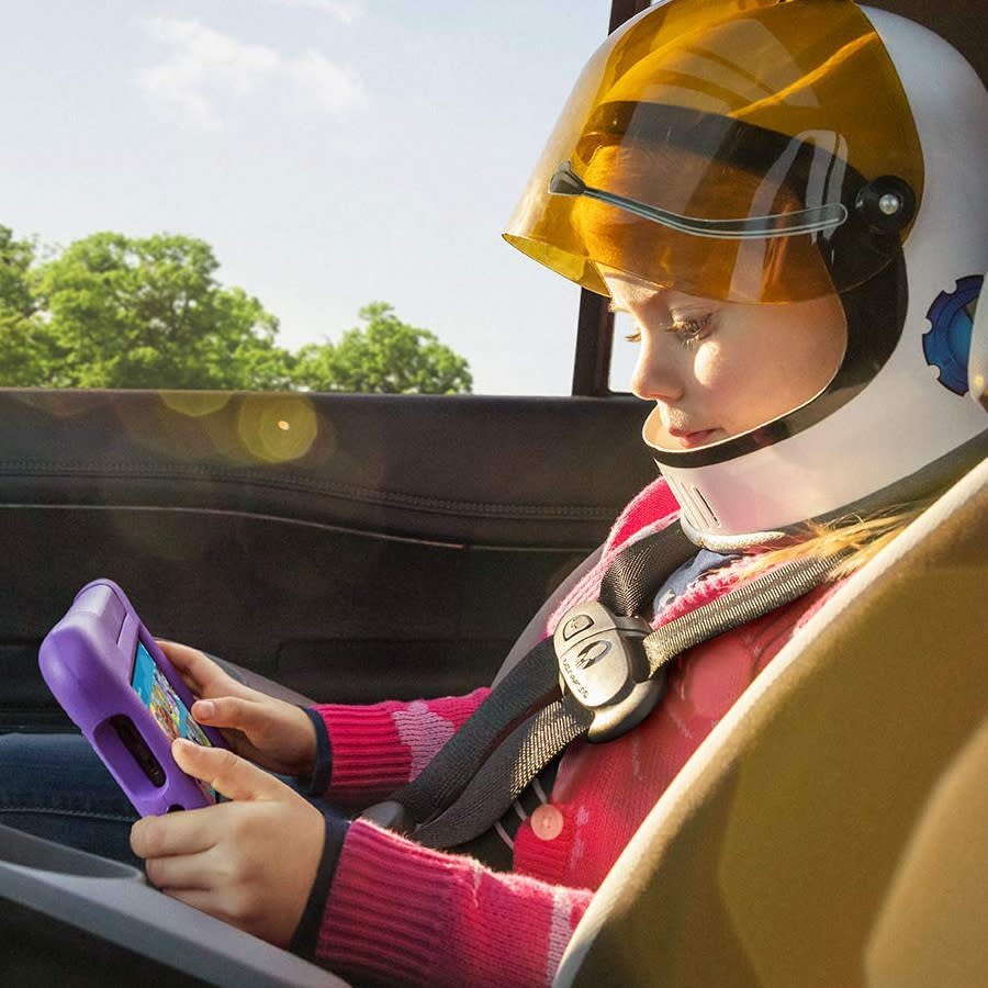
<instances>
[{"instance_id":1,"label":"pink knit sleeve with ribbed cuff on the arm nearest the camera","mask_svg":"<svg viewBox=\"0 0 988 988\"><path fill-rule=\"evenodd\" d=\"M592 892L351 824L317 958L384 985L549 985Z\"/></svg>"}]
</instances>

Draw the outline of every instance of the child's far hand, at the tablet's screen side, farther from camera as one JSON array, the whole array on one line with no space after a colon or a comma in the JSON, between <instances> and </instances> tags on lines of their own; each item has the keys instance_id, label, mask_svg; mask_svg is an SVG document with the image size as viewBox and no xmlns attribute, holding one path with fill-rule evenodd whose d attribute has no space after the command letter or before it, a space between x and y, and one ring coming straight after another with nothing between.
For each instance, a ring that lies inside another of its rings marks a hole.
<instances>
[{"instance_id":1,"label":"child's far hand, at the tablet's screen side, farther from camera","mask_svg":"<svg viewBox=\"0 0 988 988\"><path fill-rule=\"evenodd\" d=\"M220 728L245 759L281 775L308 775L315 762L315 728L294 704L238 683L197 649L159 641L161 651L199 698L192 716Z\"/></svg>"}]
</instances>

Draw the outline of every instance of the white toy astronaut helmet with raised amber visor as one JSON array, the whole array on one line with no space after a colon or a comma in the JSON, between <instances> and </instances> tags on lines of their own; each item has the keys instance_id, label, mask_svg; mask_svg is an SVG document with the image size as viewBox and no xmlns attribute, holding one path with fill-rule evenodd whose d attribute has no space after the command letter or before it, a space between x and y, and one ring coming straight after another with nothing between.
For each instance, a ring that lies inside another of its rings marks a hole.
<instances>
[{"instance_id":1,"label":"white toy astronaut helmet with raised amber visor","mask_svg":"<svg viewBox=\"0 0 988 988\"><path fill-rule=\"evenodd\" d=\"M658 164L618 173L615 147ZM839 293L846 349L819 394L698 449L650 444L687 534L730 548L932 493L986 454L986 148L984 85L911 21L669 0L591 59L505 237L605 295L602 267L736 302Z\"/></svg>"}]
</instances>

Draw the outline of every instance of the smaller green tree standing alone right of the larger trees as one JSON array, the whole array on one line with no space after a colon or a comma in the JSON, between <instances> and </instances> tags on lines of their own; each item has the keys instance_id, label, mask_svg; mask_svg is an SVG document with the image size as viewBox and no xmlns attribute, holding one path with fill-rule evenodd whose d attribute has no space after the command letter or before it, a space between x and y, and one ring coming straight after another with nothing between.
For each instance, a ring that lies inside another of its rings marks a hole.
<instances>
[{"instance_id":1,"label":"smaller green tree standing alone right of the larger trees","mask_svg":"<svg viewBox=\"0 0 988 988\"><path fill-rule=\"evenodd\" d=\"M367 325L348 329L338 344L310 344L297 352L296 386L380 394L456 394L473 388L463 357L428 329L403 323L386 302L364 305L359 316Z\"/></svg>"}]
</instances>

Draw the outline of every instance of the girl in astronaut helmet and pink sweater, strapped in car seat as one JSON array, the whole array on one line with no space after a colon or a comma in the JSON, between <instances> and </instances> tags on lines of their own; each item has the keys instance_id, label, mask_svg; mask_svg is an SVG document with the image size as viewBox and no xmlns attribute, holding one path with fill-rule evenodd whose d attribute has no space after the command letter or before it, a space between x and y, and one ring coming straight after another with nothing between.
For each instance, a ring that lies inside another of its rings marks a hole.
<instances>
[{"instance_id":1,"label":"girl in astronaut helmet and pink sweater, strapped in car seat","mask_svg":"<svg viewBox=\"0 0 988 988\"><path fill-rule=\"evenodd\" d=\"M607 41L506 236L630 314L663 478L536 638L677 515L696 551L656 575L652 627L794 555L846 575L984 457L964 329L986 145L956 53L850 0L671 0ZM637 727L570 745L494 828L509 872L328 808L407 783L486 689L303 710L166 644L237 753L176 760L231 801L139 820L131 846L168 895L361 981L546 984L649 809L835 586L682 652Z\"/></svg>"}]
</instances>

